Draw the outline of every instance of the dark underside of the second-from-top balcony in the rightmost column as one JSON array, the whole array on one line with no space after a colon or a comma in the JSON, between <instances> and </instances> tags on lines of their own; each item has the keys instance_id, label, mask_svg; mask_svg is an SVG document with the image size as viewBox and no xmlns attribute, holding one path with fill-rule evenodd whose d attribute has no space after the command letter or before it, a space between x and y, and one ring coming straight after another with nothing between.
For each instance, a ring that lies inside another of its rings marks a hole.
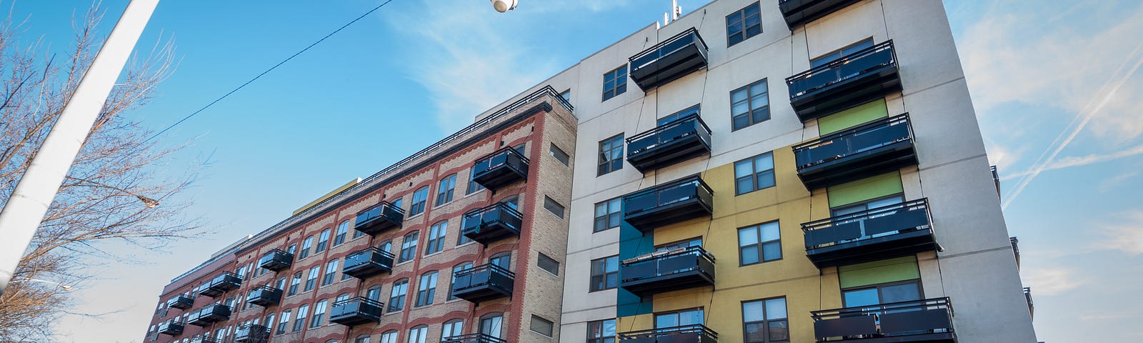
<instances>
[{"instance_id":1,"label":"dark underside of the second-from-top balcony in the rightmost column","mask_svg":"<svg viewBox=\"0 0 1143 343\"><path fill-rule=\"evenodd\" d=\"M897 64L890 63L790 98L790 105L805 122L900 90L901 77L897 73Z\"/></svg>"}]
</instances>

